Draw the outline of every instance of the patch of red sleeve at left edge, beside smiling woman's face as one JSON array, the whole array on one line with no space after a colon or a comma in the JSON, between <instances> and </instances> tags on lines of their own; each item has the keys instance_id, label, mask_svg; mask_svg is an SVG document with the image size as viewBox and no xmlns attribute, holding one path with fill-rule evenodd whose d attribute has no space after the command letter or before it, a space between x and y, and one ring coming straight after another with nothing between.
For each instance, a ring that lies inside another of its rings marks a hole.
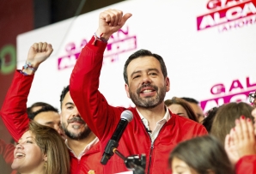
<instances>
[{"instance_id":1,"label":"patch of red sleeve at left edge, beside smiling woman's face","mask_svg":"<svg viewBox=\"0 0 256 174\"><path fill-rule=\"evenodd\" d=\"M3 140L0 140L0 155L3 156L7 165L11 165L14 160L15 146L13 144L6 144Z\"/></svg>"}]
</instances>

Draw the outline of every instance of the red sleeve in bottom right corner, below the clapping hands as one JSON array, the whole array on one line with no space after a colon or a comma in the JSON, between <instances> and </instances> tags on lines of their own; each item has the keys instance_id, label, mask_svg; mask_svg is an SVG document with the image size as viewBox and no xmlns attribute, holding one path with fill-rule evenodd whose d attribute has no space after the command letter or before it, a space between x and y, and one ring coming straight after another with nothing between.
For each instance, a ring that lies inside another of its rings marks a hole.
<instances>
[{"instance_id":1,"label":"red sleeve in bottom right corner, below the clapping hands","mask_svg":"<svg viewBox=\"0 0 256 174\"><path fill-rule=\"evenodd\" d=\"M248 155L239 159L235 165L235 173L236 174L256 173L256 155Z\"/></svg>"}]
</instances>

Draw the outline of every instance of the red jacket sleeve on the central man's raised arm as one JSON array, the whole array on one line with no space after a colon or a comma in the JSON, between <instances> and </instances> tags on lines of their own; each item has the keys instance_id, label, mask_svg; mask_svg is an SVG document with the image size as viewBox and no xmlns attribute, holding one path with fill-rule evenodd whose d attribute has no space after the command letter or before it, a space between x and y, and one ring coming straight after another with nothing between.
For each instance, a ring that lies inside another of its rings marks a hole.
<instances>
[{"instance_id":1,"label":"red jacket sleeve on the central man's raised arm","mask_svg":"<svg viewBox=\"0 0 256 174\"><path fill-rule=\"evenodd\" d=\"M118 118L113 107L98 91L103 53L106 43L96 41L94 37L88 42L78 57L76 65L70 76L70 95L74 100L81 117L88 127L101 140L107 133L113 132L113 124Z\"/></svg>"}]
</instances>

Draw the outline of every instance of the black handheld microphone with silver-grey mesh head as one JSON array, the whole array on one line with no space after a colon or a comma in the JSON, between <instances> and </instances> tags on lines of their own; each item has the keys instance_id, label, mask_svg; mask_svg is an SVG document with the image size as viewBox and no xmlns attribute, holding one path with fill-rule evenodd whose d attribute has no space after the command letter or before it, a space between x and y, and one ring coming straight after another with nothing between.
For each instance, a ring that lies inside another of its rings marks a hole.
<instances>
[{"instance_id":1,"label":"black handheld microphone with silver-grey mesh head","mask_svg":"<svg viewBox=\"0 0 256 174\"><path fill-rule=\"evenodd\" d=\"M129 110L125 110L121 113L121 119L113 132L111 139L107 142L107 146L105 147L105 151L101 158L101 164L106 165L107 161L113 156L113 149L119 147L119 140L123 135L126 126L129 122L131 122L133 118L132 112Z\"/></svg>"}]
</instances>

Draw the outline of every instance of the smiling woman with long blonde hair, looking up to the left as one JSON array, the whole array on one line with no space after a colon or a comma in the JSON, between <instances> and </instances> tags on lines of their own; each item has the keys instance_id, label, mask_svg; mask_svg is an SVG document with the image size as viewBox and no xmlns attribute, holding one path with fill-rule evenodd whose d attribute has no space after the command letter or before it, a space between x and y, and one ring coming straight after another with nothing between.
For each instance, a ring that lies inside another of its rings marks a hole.
<instances>
[{"instance_id":1,"label":"smiling woman with long blonde hair, looking up to the left","mask_svg":"<svg viewBox=\"0 0 256 174\"><path fill-rule=\"evenodd\" d=\"M70 156L55 129L31 121L14 151L12 169L26 174L68 174Z\"/></svg>"}]
</instances>

